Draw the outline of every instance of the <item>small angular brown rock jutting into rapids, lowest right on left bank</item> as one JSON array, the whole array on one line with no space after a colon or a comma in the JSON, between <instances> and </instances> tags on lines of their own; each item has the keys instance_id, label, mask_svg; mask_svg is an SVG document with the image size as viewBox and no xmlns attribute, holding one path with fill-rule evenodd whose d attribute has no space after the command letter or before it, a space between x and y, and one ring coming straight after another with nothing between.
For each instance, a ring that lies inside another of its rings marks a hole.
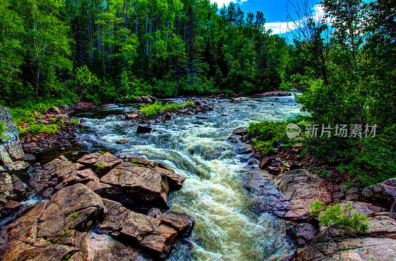
<instances>
[{"instance_id":1,"label":"small angular brown rock jutting into rapids, lowest right on left bank","mask_svg":"<svg viewBox=\"0 0 396 261\"><path fill-rule=\"evenodd\" d=\"M173 227L183 237L189 237L194 228L194 218L186 213L175 211L160 212L159 209L153 208L148 212L148 216L161 221L170 227Z\"/></svg>"}]
</instances>

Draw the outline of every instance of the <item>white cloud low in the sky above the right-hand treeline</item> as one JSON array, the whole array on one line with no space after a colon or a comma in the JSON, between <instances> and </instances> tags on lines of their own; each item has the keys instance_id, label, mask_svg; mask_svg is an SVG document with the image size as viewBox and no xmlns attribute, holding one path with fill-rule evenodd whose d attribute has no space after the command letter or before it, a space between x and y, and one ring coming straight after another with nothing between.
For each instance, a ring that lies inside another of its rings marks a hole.
<instances>
[{"instance_id":1,"label":"white cloud low in the sky above the right-hand treeline","mask_svg":"<svg viewBox=\"0 0 396 261\"><path fill-rule=\"evenodd\" d=\"M311 16L309 18L313 18L316 22L325 18L325 12L323 6L316 4L313 6ZM290 31L293 31L297 28L297 26L303 24L304 21L307 21L308 17L304 17L301 20L294 22L271 22L265 23L266 29L272 29L272 35L284 34ZM329 24L329 20L326 20Z\"/></svg>"}]
</instances>

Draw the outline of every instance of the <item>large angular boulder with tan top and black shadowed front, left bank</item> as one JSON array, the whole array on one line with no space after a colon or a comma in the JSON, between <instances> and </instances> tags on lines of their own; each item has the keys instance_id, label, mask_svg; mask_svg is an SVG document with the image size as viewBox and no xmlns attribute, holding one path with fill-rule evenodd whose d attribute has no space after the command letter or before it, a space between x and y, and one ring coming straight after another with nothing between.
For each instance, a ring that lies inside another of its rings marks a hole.
<instances>
[{"instance_id":1,"label":"large angular boulder with tan top and black shadowed front, left bank","mask_svg":"<svg viewBox=\"0 0 396 261\"><path fill-rule=\"evenodd\" d=\"M104 197L135 208L169 208L168 180L158 171L123 162L101 177L100 182L112 186L104 191Z\"/></svg>"}]
</instances>

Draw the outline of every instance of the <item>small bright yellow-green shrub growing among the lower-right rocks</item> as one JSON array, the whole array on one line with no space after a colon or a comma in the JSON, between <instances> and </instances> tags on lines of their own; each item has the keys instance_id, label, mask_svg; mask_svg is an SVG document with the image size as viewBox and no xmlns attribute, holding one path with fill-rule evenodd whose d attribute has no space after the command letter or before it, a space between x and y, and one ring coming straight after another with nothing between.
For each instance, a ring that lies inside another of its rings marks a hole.
<instances>
[{"instance_id":1,"label":"small bright yellow-green shrub growing among the lower-right rocks","mask_svg":"<svg viewBox=\"0 0 396 261\"><path fill-rule=\"evenodd\" d=\"M358 211L352 210L351 205L346 205L343 209L340 205L324 205L320 200L309 206L313 215L319 217L319 221L324 226L336 224L345 228L347 231L366 231L369 227L367 222L368 216Z\"/></svg>"}]
</instances>

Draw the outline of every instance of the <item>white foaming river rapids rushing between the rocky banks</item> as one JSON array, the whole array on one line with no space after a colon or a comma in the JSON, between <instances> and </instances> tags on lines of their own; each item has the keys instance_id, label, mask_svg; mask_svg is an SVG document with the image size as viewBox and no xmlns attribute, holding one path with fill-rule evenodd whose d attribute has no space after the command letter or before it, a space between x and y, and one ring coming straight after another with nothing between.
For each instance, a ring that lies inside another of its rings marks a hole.
<instances>
[{"instance_id":1,"label":"white foaming river rapids rushing between the rocky banks","mask_svg":"<svg viewBox=\"0 0 396 261\"><path fill-rule=\"evenodd\" d=\"M76 113L87 120L80 139L91 151L131 153L172 167L186 181L170 195L171 209L186 212L196 221L189 238L197 261L281 260L293 246L283 223L274 216L252 211L250 195L243 189L243 173L250 170L247 155L227 138L232 130L252 121L282 120L299 113L293 97L255 98L231 103L207 99L213 111L182 115L168 123L152 124L153 131L137 134L137 124L116 115L132 106L108 105ZM181 100L165 102L180 103ZM115 142L128 139L130 143ZM181 260L175 254L170 260Z\"/></svg>"}]
</instances>

